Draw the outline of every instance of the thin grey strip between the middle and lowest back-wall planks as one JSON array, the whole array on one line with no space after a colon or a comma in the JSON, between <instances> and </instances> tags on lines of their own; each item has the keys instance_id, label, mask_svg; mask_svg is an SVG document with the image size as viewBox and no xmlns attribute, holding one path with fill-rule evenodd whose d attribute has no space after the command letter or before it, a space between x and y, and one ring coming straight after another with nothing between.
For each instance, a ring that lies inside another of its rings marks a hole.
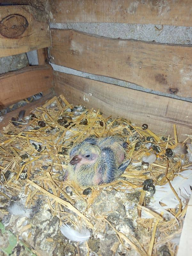
<instances>
[{"instance_id":1,"label":"thin grey strip between the middle and lowest back-wall planks","mask_svg":"<svg viewBox=\"0 0 192 256\"><path fill-rule=\"evenodd\" d=\"M142 87L140 85L137 85L137 84L129 83L129 82L119 80L119 79L115 79L115 78L112 78L112 77L93 75L93 74L78 71L78 70L75 70L75 69L72 69L72 68L67 68L67 67L59 66L59 65L56 65L56 64L52 64L52 63L50 63L50 64L51 64L53 70L59 71L59 72L62 72L62 73L71 74L71 75L75 75L75 76L81 76L81 77L89 78L89 79L92 79L92 80L96 80L96 81L100 81L100 82L104 82L104 83L108 83L108 84L116 84L116 85L119 85L119 86L131 88L131 89L142 91L142 92L149 92L149 93L153 93L153 94L157 94L157 95L161 95L161 96L170 97L170 98L173 98L173 99L185 100L185 101L192 102L191 97L185 98L185 97L180 97L180 96L170 94L170 93L158 92L158 91L154 91L154 90L151 90L151 89L144 88L144 87Z\"/></svg>"}]
</instances>

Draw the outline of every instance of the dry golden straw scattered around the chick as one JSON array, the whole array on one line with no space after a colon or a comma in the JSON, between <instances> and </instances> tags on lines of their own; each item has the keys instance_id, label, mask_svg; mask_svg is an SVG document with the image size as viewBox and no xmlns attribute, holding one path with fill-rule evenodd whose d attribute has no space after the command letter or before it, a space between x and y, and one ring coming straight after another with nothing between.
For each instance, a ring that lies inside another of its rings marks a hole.
<instances>
[{"instance_id":1,"label":"dry golden straw scattered around the chick","mask_svg":"<svg viewBox=\"0 0 192 256\"><path fill-rule=\"evenodd\" d=\"M73 111L71 112L70 109ZM187 208L182 209L180 202L177 211L170 209L180 226L174 219L165 221L162 214L147 208L146 192L142 187L143 182L149 178L154 180L155 185L162 186L169 182L171 186L170 181L174 176L181 172L182 168L190 166L187 161L181 166L179 158L165 156L165 149L174 148L178 143L176 126L173 127L174 138L171 138L170 135L164 137L163 133L154 134L148 128L143 130L124 118L105 118L100 110L74 108L63 95L58 98L55 96L42 107L34 109L32 113L35 116L30 118L31 120L29 119L28 124L24 126L15 127L10 122L0 138L1 182L6 189L6 194L0 192L0 195L9 199L24 189L23 193L26 194L28 207L35 205L41 194L44 196L44 204L49 207L53 216L57 215L60 218L60 223L70 220L78 227L83 223L92 228L94 232L104 231L106 225L109 225L115 231L119 241L113 245L114 253L119 244L130 249L124 245L125 242L140 255L155 255L157 247L167 242L168 247L173 250L172 255L174 255L176 248L172 245L171 239L174 234L181 231ZM61 118L63 118L63 123ZM83 195L84 188L77 187L70 180L63 180L69 162L68 150L74 143L82 141L87 136L101 137L112 134L121 134L124 137L129 144L127 158L131 157L132 162L140 164L135 167L131 162L119 180L92 188L92 194L89 196ZM190 135L186 141L188 138ZM147 147L148 143L152 143L150 147ZM156 153L156 162L149 164L148 169L142 168L143 156L149 156L151 153ZM11 172L9 176L7 171ZM66 192L66 187L72 191L71 195ZM119 232L107 220L105 213L102 216L87 217L88 212L93 214L92 204L101 191L111 191L112 189L116 189L117 192L127 192L128 190L133 192L135 189L141 191L137 208L137 225L151 232L148 243L146 241L139 242L136 237L131 235L127 237ZM172 186L171 189L178 198ZM80 199L86 203L83 213L74 206ZM141 210L149 213L153 219L141 219ZM31 228L30 224L24 226L21 231L26 231L29 228ZM157 228L160 232L158 239L156 237ZM49 241L52 242L52 240Z\"/></svg>"}]
</instances>

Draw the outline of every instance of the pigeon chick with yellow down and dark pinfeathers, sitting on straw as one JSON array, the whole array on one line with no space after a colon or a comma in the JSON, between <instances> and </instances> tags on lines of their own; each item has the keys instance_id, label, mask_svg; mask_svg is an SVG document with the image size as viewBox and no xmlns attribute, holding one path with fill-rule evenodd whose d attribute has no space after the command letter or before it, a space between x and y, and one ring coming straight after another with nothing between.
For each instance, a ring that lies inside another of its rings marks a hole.
<instances>
[{"instance_id":1,"label":"pigeon chick with yellow down and dark pinfeathers, sitting on straw","mask_svg":"<svg viewBox=\"0 0 192 256\"><path fill-rule=\"evenodd\" d=\"M109 183L118 178L130 160L121 137L86 138L70 151L69 178L81 186Z\"/></svg>"}]
</instances>

